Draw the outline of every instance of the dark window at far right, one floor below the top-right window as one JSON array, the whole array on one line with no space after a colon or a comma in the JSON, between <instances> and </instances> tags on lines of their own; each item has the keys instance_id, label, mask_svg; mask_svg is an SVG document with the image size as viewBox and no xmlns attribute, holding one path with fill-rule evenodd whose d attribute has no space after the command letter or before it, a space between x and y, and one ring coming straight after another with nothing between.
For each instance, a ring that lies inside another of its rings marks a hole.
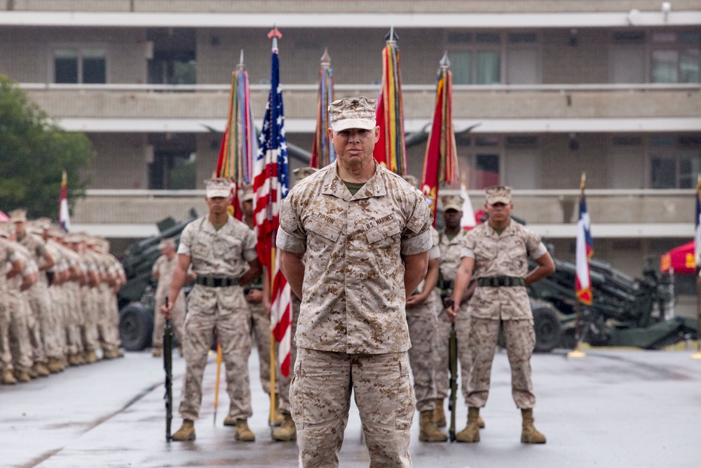
<instances>
[{"instance_id":1,"label":"dark window at far right, one floor below the top-right window","mask_svg":"<svg viewBox=\"0 0 701 468\"><path fill-rule=\"evenodd\" d=\"M701 135L651 138L653 189L690 189L701 173Z\"/></svg>"}]
</instances>

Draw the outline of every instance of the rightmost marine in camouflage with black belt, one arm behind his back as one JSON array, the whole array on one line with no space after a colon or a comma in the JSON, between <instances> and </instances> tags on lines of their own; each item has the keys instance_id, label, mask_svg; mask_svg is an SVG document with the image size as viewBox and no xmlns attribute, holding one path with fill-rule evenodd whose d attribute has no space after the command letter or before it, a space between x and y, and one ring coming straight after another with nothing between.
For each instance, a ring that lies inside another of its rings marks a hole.
<instances>
[{"instance_id":1,"label":"rightmost marine in camouflage with black belt, one arm behind his back","mask_svg":"<svg viewBox=\"0 0 701 468\"><path fill-rule=\"evenodd\" d=\"M489 395L491 364L499 334L511 366L511 388L516 406L521 409L522 443L545 443L545 436L533 426L536 396L531 382L531 354L536 345L533 314L526 286L550 276L554 263L540 236L512 221L511 187L485 189L484 210L489 222L472 229L463 239L461 265L456 276L449 314L456 317L465 288L473 277L477 288L468 304L468 349L470 375L465 404L468 423L456 434L461 442L479 442L479 408ZM538 266L528 271L528 257ZM460 312L463 313L463 312ZM458 321L459 323L459 321Z\"/></svg>"}]
</instances>

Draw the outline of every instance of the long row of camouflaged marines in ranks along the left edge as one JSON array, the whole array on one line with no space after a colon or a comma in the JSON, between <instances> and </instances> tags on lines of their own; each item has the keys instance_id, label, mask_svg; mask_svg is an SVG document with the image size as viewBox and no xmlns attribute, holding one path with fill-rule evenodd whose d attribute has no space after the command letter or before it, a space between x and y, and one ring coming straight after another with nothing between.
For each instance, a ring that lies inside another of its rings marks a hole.
<instances>
[{"instance_id":1,"label":"long row of camouflaged marines in ranks along the left edge","mask_svg":"<svg viewBox=\"0 0 701 468\"><path fill-rule=\"evenodd\" d=\"M0 382L123 356L116 292L125 282L109 243L48 218L0 222Z\"/></svg>"}]
</instances>

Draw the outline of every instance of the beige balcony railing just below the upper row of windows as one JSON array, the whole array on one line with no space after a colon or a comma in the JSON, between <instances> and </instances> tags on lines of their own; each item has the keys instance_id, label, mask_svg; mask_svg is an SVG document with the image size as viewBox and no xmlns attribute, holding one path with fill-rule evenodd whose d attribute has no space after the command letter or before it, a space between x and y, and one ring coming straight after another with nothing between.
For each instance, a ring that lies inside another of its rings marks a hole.
<instances>
[{"instance_id":1,"label":"beige balcony railing just below the upper row of windows","mask_svg":"<svg viewBox=\"0 0 701 468\"><path fill-rule=\"evenodd\" d=\"M66 85L23 83L29 97L58 119L224 119L226 85ZM283 85L287 119L314 119L317 86ZM254 116L269 86L251 86ZM405 119L430 119L433 85L402 86ZM379 85L336 85L338 95L376 95ZM699 118L701 84L457 85L454 119Z\"/></svg>"}]
</instances>

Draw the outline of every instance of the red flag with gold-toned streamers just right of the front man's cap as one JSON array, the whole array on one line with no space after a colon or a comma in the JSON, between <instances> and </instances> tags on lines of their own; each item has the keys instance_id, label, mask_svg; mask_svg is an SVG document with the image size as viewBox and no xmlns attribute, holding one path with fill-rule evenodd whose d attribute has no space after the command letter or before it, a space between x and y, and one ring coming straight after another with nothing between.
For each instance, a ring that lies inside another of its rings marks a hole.
<instances>
[{"instance_id":1,"label":"red flag with gold-toned streamers just right of the front man's cap","mask_svg":"<svg viewBox=\"0 0 701 468\"><path fill-rule=\"evenodd\" d=\"M404 140L404 104L402 77L399 70L399 47L394 28L382 50L382 89L376 109L380 140L375 145L374 158L393 173L407 173L407 146Z\"/></svg>"}]
</instances>

